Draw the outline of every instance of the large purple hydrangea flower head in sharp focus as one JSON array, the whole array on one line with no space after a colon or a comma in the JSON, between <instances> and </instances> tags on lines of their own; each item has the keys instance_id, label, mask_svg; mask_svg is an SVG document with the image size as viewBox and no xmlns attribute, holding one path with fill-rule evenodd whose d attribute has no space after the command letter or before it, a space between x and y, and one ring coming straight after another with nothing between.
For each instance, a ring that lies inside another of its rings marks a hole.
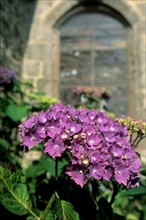
<instances>
[{"instance_id":1,"label":"large purple hydrangea flower head in sharp focus","mask_svg":"<svg viewBox=\"0 0 146 220\"><path fill-rule=\"evenodd\" d=\"M44 143L52 158L71 155L66 174L83 187L88 179L114 178L127 188L139 185L141 162L130 142L128 128L105 112L76 109L61 103L32 115L19 125L24 149Z\"/></svg>"}]
</instances>

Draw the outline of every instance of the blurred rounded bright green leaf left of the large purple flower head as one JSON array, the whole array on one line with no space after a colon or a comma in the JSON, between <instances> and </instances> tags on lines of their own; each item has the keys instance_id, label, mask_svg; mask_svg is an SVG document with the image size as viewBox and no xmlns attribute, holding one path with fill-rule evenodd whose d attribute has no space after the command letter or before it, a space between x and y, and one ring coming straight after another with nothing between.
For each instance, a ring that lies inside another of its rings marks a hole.
<instances>
[{"instance_id":1,"label":"blurred rounded bright green leaf left of the large purple flower head","mask_svg":"<svg viewBox=\"0 0 146 220\"><path fill-rule=\"evenodd\" d=\"M7 106L5 114L17 122L27 116L27 107L24 105L10 104Z\"/></svg>"}]
</instances>

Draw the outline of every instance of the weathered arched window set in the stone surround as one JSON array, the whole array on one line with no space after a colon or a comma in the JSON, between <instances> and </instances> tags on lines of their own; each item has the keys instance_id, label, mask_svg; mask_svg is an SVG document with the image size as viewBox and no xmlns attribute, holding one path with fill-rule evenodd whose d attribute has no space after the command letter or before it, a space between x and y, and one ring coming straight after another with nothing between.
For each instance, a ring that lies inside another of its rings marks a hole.
<instances>
[{"instance_id":1,"label":"weathered arched window set in the stone surround","mask_svg":"<svg viewBox=\"0 0 146 220\"><path fill-rule=\"evenodd\" d=\"M128 29L102 12L84 11L60 26L61 100L71 103L77 85L106 87L112 93L110 109L128 113Z\"/></svg>"}]
</instances>

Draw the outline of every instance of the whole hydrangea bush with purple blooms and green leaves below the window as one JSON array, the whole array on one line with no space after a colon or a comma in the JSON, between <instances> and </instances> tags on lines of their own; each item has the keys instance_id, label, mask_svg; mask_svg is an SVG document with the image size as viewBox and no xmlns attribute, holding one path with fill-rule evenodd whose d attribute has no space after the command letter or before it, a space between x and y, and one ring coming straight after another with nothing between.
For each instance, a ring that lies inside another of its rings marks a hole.
<instances>
[{"instance_id":1,"label":"whole hydrangea bush with purple blooms and green leaves below the window","mask_svg":"<svg viewBox=\"0 0 146 220\"><path fill-rule=\"evenodd\" d=\"M3 219L145 219L146 169L135 148L145 122L63 105L6 67L0 89ZM41 157L24 168L24 155L36 150Z\"/></svg>"}]
</instances>

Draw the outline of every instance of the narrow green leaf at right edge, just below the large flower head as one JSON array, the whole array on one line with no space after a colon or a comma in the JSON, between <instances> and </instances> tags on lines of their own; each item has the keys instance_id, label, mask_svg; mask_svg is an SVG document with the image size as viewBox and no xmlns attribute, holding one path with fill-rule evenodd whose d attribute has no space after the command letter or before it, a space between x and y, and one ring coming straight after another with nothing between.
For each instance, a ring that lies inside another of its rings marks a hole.
<instances>
[{"instance_id":1,"label":"narrow green leaf at right edge, just below the large flower head","mask_svg":"<svg viewBox=\"0 0 146 220\"><path fill-rule=\"evenodd\" d=\"M139 186L134 189L125 190L121 193L121 196L137 196L137 195L146 195L146 187Z\"/></svg>"}]
</instances>

